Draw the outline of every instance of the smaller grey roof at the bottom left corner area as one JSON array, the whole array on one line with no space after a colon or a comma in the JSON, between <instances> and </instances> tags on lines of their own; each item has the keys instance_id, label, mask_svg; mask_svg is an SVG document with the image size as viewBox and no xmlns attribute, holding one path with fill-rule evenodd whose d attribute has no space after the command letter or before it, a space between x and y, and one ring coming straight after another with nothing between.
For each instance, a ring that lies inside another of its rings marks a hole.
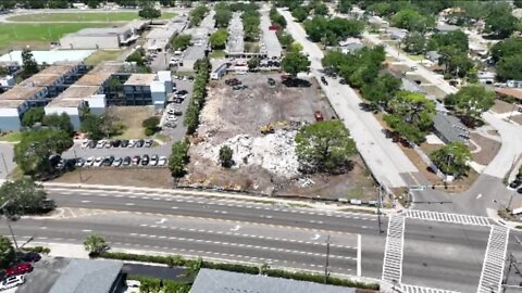
<instances>
[{"instance_id":1,"label":"smaller grey roof at the bottom left corner area","mask_svg":"<svg viewBox=\"0 0 522 293\"><path fill-rule=\"evenodd\" d=\"M123 262L73 259L49 293L109 293Z\"/></svg>"}]
</instances>

